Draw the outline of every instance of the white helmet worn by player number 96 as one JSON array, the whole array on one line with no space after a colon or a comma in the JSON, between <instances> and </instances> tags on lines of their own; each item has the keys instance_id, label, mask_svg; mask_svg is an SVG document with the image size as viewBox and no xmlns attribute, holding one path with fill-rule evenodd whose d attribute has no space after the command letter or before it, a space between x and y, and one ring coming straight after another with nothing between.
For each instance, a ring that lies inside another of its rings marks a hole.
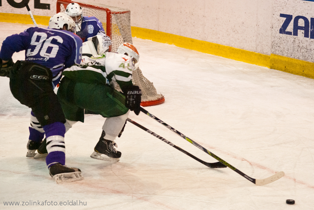
<instances>
[{"instance_id":1,"label":"white helmet worn by player number 96","mask_svg":"<svg viewBox=\"0 0 314 210\"><path fill-rule=\"evenodd\" d=\"M75 23L66 13L59 12L49 20L49 28L51 29L62 29L64 24L68 25L68 31L75 33Z\"/></svg>"}]
</instances>

